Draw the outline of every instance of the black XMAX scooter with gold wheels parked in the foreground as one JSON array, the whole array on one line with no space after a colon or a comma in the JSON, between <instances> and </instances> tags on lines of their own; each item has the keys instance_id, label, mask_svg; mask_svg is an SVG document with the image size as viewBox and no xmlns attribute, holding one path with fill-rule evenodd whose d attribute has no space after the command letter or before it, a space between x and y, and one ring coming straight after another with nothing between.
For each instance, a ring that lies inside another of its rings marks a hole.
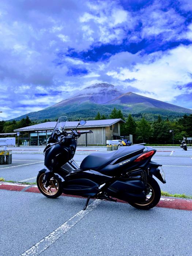
<instances>
[{"instance_id":1,"label":"black XMAX scooter with gold wheels parked in the foreground","mask_svg":"<svg viewBox=\"0 0 192 256\"><path fill-rule=\"evenodd\" d=\"M77 141L84 133L77 127L66 132L67 117L60 117L44 150L45 168L37 176L39 191L56 198L62 193L116 201L121 199L133 207L150 209L157 205L161 189L153 175L166 183L159 163L151 161L156 150L143 145L121 147L111 153L93 153L80 166L73 160ZM84 125L80 121L78 125ZM115 198L115 199L114 199Z\"/></svg>"}]
</instances>

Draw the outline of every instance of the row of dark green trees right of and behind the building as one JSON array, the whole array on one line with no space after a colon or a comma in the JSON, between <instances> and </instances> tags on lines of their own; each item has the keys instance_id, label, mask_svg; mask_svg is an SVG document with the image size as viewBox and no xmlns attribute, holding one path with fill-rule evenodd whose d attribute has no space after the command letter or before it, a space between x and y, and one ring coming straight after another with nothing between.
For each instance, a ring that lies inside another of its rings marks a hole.
<instances>
[{"instance_id":1,"label":"row of dark green trees right of and behind the building","mask_svg":"<svg viewBox=\"0 0 192 256\"><path fill-rule=\"evenodd\" d=\"M127 118L123 116L120 109L114 108L110 114L110 119L121 118L125 124L121 124L121 135L133 135L134 143L146 142L149 144L179 144L183 137L192 136L192 114L186 114L177 121L163 120L159 115L155 121L147 121L142 117L140 121L135 121L132 114ZM97 113L95 120L107 119L104 115ZM171 132L170 132L171 131Z\"/></svg>"}]
</instances>

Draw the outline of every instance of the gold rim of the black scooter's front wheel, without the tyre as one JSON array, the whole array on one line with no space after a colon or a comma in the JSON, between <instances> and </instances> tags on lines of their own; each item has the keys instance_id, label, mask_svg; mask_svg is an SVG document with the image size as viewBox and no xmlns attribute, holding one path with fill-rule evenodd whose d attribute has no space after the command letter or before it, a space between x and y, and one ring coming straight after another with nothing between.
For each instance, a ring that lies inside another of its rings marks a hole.
<instances>
[{"instance_id":1,"label":"gold rim of the black scooter's front wheel, without the tyre","mask_svg":"<svg viewBox=\"0 0 192 256\"><path fill-rule=\"evenodd\" d=\"M44 173L41 174L41 176L39 177L39 187L41 188L41 191L44 192L46 195L49 196L53 196L57 193L58 189L59 189L59 182L57 181L56 178L52 177L50 179L49 185L46 188L45 187L45 183L43 183L43 177L44 177Z\"/></svg>"}]
</instances>

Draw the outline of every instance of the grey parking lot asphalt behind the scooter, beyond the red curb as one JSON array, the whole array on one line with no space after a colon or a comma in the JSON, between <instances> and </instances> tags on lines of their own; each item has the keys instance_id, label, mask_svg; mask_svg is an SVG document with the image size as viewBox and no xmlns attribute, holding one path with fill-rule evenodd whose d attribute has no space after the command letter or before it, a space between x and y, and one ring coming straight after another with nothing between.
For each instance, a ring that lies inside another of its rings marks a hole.
<instances>
[{"instance_id":1,"label":"grey parking lot asphalt behind the scooter, beyond the red curb","mask_svg":"<svg viewBox=\"0 0 192 256\"><path fill-rule=\"evenodd\" d=\"M44 147L11 147L12 164L0 165L0 177L6 181L35 182L38 171L44 167ZM192 195L192 148L155 147L153 161L161 163L166 184L157 180L161 189L169 193ZM91 153L106 153L106 147L78 147L74 160L80 165Z\"/></svg>"}]
</instances>

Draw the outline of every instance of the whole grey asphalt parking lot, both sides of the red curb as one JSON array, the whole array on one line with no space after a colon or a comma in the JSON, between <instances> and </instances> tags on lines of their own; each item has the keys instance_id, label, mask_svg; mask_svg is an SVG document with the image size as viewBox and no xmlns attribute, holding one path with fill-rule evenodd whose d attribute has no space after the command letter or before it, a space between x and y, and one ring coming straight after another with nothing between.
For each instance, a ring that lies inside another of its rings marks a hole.
<instances>
[{"instance_id":1,"label":"whole grey asphalt parking lot, both sides of the red curb","mask_svg":"<svg viewBox=\"0 0 192 256\"><path fill-rule=\"evenodd\" d=\"M43 147L12 147L12 164L0 166L6 181L34 182L44 167ZM156 147L163 165L163 191L192 195L192 148ZM75 161L105 147L78 147ZM110 154L110 153L109 153ZM191 211L0 189L0 255L191 255Z\"/></svg>"}]
</instances>

